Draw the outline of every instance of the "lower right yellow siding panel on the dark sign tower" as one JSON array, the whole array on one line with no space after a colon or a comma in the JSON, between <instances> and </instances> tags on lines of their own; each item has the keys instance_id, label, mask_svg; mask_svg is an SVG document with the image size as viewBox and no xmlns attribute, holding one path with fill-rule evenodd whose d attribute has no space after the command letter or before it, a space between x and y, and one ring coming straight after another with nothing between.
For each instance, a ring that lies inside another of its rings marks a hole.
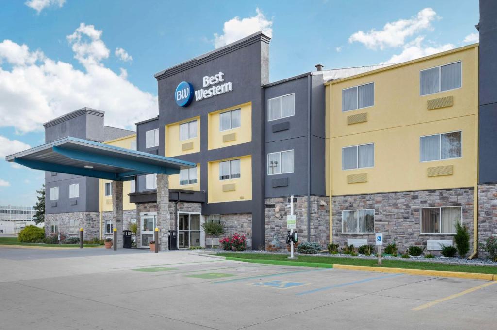
<instances>
[{"instance_id":1,"label":"lower right yellow siding panel on the dark sign tower","mask_svg":"<svg viewBox=\"0 0 497 330\"><path fill-rule=\"evenodd\" d=\"M219 163L225 160L240 159L241 173L238 179L219 180ZM228 159L221 159L208 163L208 202L215 203L221 201L250 200L252 199L252 156L242 156ZM227 185L235 184L233 187ZM226 186L223 189L223 186Z\"/></svg>"}]
</instances>

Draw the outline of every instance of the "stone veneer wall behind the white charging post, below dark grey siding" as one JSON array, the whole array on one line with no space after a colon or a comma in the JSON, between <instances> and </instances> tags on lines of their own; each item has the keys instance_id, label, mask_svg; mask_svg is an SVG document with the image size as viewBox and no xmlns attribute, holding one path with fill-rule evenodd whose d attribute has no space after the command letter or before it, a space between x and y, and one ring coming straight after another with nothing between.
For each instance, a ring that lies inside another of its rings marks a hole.
<instances>
[{"instance_id":1,"label":"stone veneer wall behind the white charging post, below dark grey siding","mask_svg":"<svg viewBox=\"0 0 497 330\"><path fill-rule=\"evenodd\" d=\"M290 197L264 199L264 241L271 244L273 234L278 234L280 248L286 247L287 224L286 216L290 214ZM296 230L299 241L308 241L307 238L307 196L297 196L294 206L296 215ZM319 242L325 247L330 241L330 198L311 196L311 241Z\"/></svg>"}]
</instances>

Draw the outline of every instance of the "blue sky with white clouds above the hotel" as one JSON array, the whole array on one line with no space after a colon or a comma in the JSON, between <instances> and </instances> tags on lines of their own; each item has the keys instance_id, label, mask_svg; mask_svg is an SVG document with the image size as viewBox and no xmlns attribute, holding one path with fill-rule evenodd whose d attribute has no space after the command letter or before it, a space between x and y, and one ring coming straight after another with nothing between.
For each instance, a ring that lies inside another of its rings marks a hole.
<instances>
[{"instance_id":1,"label":"blue sky with white clouds above the hotel","mask_svg":"<svg viewBox=\"0 0 497 330\"><path fill-rule=\"evenodd\" d=\"M18 0L0 10L0 205L31 206L44 172L4 161L43 123L91 107L134 129L158 114L154 74L257 31L270 81L401 63L478 42L478 0Z\"/></svg>"}]
</instances>

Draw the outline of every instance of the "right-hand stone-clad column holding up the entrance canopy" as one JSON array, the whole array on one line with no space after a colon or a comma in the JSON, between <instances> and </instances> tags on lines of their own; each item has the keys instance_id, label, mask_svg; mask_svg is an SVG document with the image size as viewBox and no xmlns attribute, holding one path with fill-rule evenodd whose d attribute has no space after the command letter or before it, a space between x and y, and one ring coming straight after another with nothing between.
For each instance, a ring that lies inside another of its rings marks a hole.
<instances>
[{"instance_id":1,"label":"right-hand stone-clad column holding up the entrance canopy","mask_svg":"<svg viewBox=\"0 0 497 330\"><path fill-rule=\"evenodd\" d=\"M169 234L169 177L166 174L157 175L157 227L159 228L159 248L167 250L167 235ZM157 243L156 243L157 244Z\"/></svg>"}]
</instances>

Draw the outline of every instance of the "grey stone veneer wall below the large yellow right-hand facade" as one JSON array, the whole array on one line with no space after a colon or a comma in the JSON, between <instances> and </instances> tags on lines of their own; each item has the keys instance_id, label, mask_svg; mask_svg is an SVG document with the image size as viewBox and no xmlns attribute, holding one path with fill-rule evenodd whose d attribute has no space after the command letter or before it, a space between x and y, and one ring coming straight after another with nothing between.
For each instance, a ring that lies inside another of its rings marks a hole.
<instances>
[{"instance_id":1,"label":"grey stone veneer wall below the large yellow right-hand facade","mask_svg":"<svg viewBox=\"0 0 497 330\"><path fill-rule=\"evenodd\" d=\"M367 239L374 234L342 234L342 211L375 209L375 231L383 232L384 246L395 240L399 252L411 245L426 247L427 240L453 240L453 235L420 234L420 207L462 206L463 224L473 237L474 189L446 189L332 197L333 243L343 246L349 238ZM470 239L473 250L473 239ZM431 253L438 253L432 251Z\"/></svg>"}]
</instances>

